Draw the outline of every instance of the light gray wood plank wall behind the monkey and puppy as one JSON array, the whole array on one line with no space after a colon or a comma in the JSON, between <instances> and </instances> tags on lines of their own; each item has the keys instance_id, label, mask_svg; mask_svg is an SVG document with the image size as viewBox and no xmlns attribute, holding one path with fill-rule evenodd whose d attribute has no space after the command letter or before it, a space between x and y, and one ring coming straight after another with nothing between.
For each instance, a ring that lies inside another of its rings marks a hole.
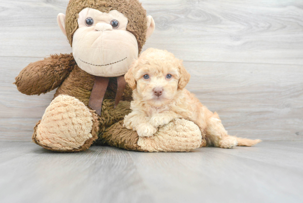
<instances>
[{"instance_id":1,"label":"light gray wood plank wall behind the monkey and puppy","mask_svg":"<svg viewBox=\"0 0 303 203\"><path fill-rule=\"evenodd\" d=\"M183 59L187 89L231 135L303 140L302 0L144 0L156 22L145 44ZM29 63L70 53L57 14L68 0L0 0L0 140L30 141L54 91L19 93Z\"/></svg>"}]
</instances>

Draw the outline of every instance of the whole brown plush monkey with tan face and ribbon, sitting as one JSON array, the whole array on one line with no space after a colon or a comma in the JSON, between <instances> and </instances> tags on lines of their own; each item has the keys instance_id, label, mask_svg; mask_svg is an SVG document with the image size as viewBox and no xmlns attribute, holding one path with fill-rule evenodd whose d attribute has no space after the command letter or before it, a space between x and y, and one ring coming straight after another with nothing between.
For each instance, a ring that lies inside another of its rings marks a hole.
<instances>
[{"instance_id":1,"label":"whole brown plush monkey with tan face and ribbon, sitting","mask_svg":"<svg viewBox=\"0 0 303 203\"><path fill-rule=\"evenodd\" d=\"M184 119L176 119L145 138L122 126L131 100L123 75L155 28L141 3L70 0L66 15L59 14L57 20L73 53L31 63L15 82L27 95L58 87L34 128L35 143L59 152L83 151L92 143L149 152L205 146L198 126Z\"/></svg>"}]
</instances>

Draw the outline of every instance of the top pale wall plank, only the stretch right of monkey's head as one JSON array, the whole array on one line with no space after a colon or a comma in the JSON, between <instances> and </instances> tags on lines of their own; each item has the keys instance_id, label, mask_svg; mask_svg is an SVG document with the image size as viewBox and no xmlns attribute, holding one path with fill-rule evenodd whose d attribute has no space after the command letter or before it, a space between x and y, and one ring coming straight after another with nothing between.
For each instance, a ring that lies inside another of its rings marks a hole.
<instances>
[{"instance_id":1,"label":"top pale wall plank, only the stretch right of monkey's head","mask_svg":"<svg viewBox=\"0 0 303 203\"><path fill-rule=\"evenodd\" d=\"M156 23L146 46L183 60L303 64L300 0L143 1Z\"/></svg>"}]
</instances>

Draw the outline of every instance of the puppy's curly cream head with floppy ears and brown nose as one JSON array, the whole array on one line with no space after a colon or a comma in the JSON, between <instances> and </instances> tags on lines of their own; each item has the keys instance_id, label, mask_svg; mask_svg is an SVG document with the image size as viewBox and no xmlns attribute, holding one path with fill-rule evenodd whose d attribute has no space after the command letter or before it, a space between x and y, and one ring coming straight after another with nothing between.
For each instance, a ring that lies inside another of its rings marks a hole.
<instances>
[{"instance_id":1,"label":"puppy's curly cream head with floppy ears and brown nose","mask_svg":"<svg viewBox=\"0 0 303 203\"><path fill-rule=\"evenodd\" d=\"M134 90L134 97L152 106L169 103L177 90L182 90L190 80L190 74L172 53L149 48L134 61L125 80Z\"/></svg>"}]
</instances>

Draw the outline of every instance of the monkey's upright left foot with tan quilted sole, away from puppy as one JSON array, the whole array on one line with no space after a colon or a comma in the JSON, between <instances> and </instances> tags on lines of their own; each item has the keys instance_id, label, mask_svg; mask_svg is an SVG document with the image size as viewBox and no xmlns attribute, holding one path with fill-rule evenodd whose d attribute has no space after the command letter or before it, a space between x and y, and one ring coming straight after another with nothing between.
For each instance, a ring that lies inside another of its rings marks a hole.
<instances>
[{"instance_id":1,"label":"monkey's upright left foot with tan quilted sole, away from puppy","mask_svg":"<svg viewBox=\"0 0 303 203\"><path fill-rule=\"evenodd\" d=\"M49 150L79 152L88 149L97 139L97 123L96 113L79 99L59 95L36 124L32 139Z\"/></svg>"}]
</instances>

